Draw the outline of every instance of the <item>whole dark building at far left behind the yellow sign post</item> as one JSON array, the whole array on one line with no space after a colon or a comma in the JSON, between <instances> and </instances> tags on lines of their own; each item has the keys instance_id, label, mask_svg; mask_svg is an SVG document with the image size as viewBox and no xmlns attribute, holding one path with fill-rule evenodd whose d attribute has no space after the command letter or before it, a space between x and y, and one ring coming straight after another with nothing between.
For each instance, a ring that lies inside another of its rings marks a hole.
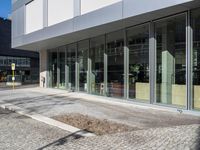
<instances>
[{"instance_id":1,"label":"whole dark building at far left behind the yellow sign post","mask_svg":"<svg viewBox=\"0 0 200 150\"><path fill-rule=\"evenodd\" d=\"M39 82L39 53L11 48L11 20L0 18L0 82L11 81L15 63L16 82Z\"/></svg>"}]
</instances>

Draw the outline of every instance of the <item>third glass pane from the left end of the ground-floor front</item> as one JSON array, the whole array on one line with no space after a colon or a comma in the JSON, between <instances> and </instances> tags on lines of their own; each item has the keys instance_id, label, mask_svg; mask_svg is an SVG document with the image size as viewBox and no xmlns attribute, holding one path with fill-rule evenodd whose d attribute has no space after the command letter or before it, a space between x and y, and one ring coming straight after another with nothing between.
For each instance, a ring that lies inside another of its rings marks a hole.
<instances>
[{"instance_id":1,"label":"third glass pane from the left end of the ground-floor front","mask_svg":"<svg viewBox=\"0 0 200 150\"><path fill-rule=\"evenodd\" d=\"M71 90L75 90L75 79L76 79L76 44L71 44L67 49L67 88Z\"/></svg>"}]
</instances>

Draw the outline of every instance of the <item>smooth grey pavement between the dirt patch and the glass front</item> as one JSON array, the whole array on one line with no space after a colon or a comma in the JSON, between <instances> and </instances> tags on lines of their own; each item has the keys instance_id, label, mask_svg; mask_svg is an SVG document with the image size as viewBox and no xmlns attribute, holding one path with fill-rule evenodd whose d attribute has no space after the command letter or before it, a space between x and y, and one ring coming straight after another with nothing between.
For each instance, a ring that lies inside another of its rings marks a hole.
<instances>
[{"instance_id":1,"label":"smooth grey pavement between the dirt patch and the glass front","mask_svg":"<svg viewBox=\"0 0 200 150\"><path fill-rule=\"evenodd\" d=\"M27 90L26 92L29 91ZM41 93L38 92L31 93L30 91L30 93L24 94L23 91L19 91L16 96L11 95L10 98L7 96L6 92L4 95L5 97L2 96L1 100L5 103L11 103L15 106L24 108L27 110L27 113L30 114L38 113L50 117L69 112L87 113L88 115L100 112L101 114L105 114L108 119L120 121L120 123L128 123L134 126L144 127L145 129L200 124L200 117L152 109L127 109L126 107L116 107L115 105L107 103L87 101L85 99L83 100L81 97L74 98L70 95L66 96L60 93L42 93L41 95ZM70 111L67 110L68 108ZM81 109L79 111L76 110L76 108ZM82 110L84 112L82 112ZM105 119L107 119L106 117ZM96 118L98 118L98 116Z\"/></svg>"}]
</instances>

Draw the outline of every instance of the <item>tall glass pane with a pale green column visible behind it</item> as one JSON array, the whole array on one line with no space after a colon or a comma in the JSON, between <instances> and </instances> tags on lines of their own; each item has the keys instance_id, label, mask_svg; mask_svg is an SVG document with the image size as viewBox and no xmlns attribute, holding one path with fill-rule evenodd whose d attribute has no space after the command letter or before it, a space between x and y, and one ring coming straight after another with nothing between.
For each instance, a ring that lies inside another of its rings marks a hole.
<instances>
[{"instance_id":1,"label":"tall glass pane with a pale green column visible behind it","mask_svg":"<svg viewBox=\"0 0 200 150\"><path fill-rule=\"evenodd\" d=\"M156 22L157 103L186 105L186 15Z\"/></svg>"}]
</instances>

